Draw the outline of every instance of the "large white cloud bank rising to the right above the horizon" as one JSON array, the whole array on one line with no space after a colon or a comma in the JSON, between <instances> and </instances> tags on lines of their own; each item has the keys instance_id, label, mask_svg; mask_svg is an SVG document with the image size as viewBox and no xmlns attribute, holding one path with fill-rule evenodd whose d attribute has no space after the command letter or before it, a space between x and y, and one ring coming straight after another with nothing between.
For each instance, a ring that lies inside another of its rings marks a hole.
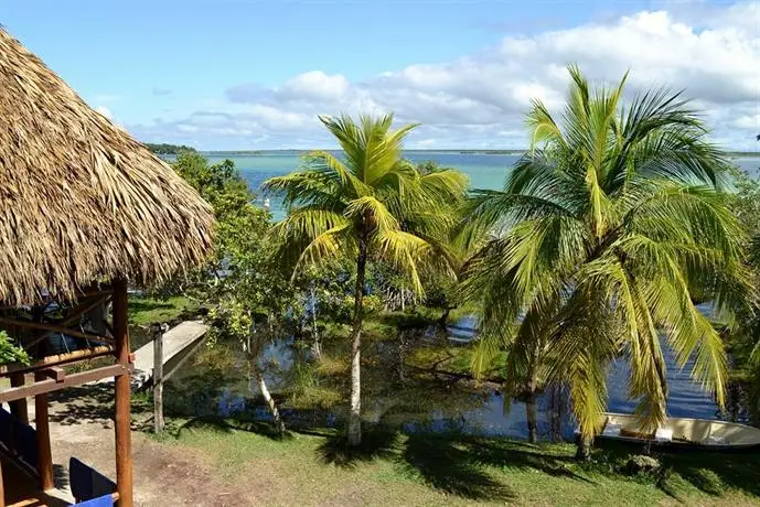
<instances>
[{"instance_id":1,"label":"large white cloud bank rising to the right above the horizon","mask_svg":"<svg viewBox=\"0 0 760 507\"><path fill-rule=\"evenodd\" d=\"M242 84L225 90L226 100L213 110L131 130L210 149L311 148L329 142L319 114L396 111L399 121L424 123L410 136L410 147L520 148L526 143L522 123L531 99L561 107L565 67L578 63L601 83L616 83L630 69L628 98L652 86L683 88L704 110L716 140L756 149L760 3L686 7L679 2L668 11L505 36L453 62L410 65L363 80L310 71L276 87Z\"/></svg>"}]
</instances>

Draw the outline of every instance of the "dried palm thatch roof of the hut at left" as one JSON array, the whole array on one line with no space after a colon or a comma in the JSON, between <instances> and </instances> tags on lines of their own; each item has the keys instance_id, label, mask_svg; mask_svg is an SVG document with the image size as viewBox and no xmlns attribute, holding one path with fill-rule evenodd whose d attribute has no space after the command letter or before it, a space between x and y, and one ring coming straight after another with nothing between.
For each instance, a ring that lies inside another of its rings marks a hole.
<instances>
[{"instance_id":1,"label":"dried palm thatch roof of the hut at left","mask_svg":"<svg viewBox=\"0 0 760 507\"><path fill-rule=\"evenodd\" d=\"M150 284L203 261L214 219L170 166L0 29L0 301Z\"/></svg>"}]
</instances>

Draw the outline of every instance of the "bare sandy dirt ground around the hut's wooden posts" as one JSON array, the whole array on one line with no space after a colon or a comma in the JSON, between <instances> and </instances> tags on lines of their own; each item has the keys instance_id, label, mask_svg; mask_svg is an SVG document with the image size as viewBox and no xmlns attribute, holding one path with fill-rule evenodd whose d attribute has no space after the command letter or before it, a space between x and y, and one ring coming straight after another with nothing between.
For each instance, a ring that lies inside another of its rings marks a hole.
<instances>
[{"instance_id":1,"label":"bare sandy dirt ground around the hut's wooden posts","mask_svg":"<svg viewBox=\"0 0 760 507\"><path fill-rule=\"evenodd\" d=\"M56 465L67 468L68 459L76 456L116 477L111 389L109 385L67 389L51 400L51 441ZM137 414L132 429L138 430L144 419ZM132 431L132 466L135 501L139 506L251 505L244 492L229 490L217 481L199 453L156 442L141 431Z\"/></svg>"}]
</instances>

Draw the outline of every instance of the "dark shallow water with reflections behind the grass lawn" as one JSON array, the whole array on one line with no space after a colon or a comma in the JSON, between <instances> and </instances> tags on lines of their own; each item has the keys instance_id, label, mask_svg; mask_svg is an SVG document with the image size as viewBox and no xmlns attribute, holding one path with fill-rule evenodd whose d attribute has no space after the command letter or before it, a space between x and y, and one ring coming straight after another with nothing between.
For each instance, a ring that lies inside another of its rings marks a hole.
<instances>
[{"instance_id":1,"label":"dark shallow water with reflections behind the grass lawn","mask_svg":"<svg viewBox=\"0 0 760 507\"><path fill-rule=\"evenodd\" d=\"M420 374L409 370L404 354L410 346L443 339L461 344L475 336L477 319L464 317L449 326L445 337L432 330L409 337L399 333L398 341L376 342L365 346L363 366L364 418L413 431L460 431L483 435L525 438L525 406L513 400L505 411L499 386L475 386L471 381L446 374ZM169 382L165 397L168 411L185 416L240 416L269 420L269 412L257 399L258 390L242 350L228 345L216 352L204 350L208 357L185 366ZM329 356L330 345L325 345ZM258 360L269 390L279 398L281 412L291 425L334 427L347 404L347 371L317 374L307 344L292 337L270 343ZM341 357L343 350L332 350ZM667 412L673 417L718 419L718 407L689 378L692 363L683 370L675 365L672 350L664 347L670 387ZM221 364L220 364L221 363ZM628 366L622 359L610 366L608 376L609 410L632 412L635 401L628 399ZM324 392L339 392L325 401ZM341 395L341 392L343 395ZM296 396L298 393L298 397ZM298 403L293 400L306 399ZM315 401L312 401L315 400ZM549 389L538 397L538 433L570 438L572 421L566 393ZM312 407L321 406L322 409ZM309 408L304 408L309 407Z\"/></svg>"}]
</instances>

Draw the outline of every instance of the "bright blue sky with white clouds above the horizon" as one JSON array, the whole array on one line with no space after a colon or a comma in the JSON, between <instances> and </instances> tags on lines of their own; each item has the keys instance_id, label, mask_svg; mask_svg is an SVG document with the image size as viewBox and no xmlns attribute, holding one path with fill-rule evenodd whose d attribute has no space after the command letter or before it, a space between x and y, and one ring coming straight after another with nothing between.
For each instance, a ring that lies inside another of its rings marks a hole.
<instances>
[{"instance_id":1,"label":"bright blue sky with white clouds above the horizon","mask_svg":"<svg viewBox=\"0 0 760 507\"><path fill-rule=\"evenodd\" d=\"M416 148L520 148L563 68L686 88L714 138L754 148L760 8L706 1L35 1L0 22L143 141L327 145L318 114L394 110Z\"/></svg>"}]
</instances>

